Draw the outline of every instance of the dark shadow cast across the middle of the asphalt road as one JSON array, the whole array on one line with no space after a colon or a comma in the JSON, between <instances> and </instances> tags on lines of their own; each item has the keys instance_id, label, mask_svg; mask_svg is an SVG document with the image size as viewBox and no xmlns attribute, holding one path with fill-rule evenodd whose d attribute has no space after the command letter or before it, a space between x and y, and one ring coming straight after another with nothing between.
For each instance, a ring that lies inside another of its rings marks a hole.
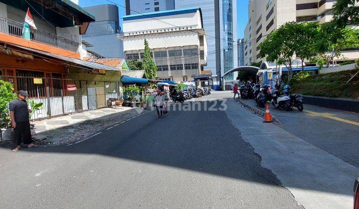
<instances>
[{"instance_id":1,"label":"dark shadow cast across the middle of the asphalt road","mask_svg":"<svg viewBox=\"0 0 359 209\"><path fill-rule=\"evenodd\" d=\"M228 98L226 102L233 101ZM198 106L196 102L186 102L182 106L177 104L174 110L160 119L156 119L155 111L149 112L71 146L21 149L16 154L40 153L40 155L31 158L31 162L26 162L26 159L21 162L13 159L10 163L19 166L22 163L44 163L47 160L46 154L49 153L95 154L261 184L281 185L270 170L261 166L261 157L253 152L253 147L241 138L238 130L230 123L223 111L226 108L223 101L215 100L199 104L201 109L195 107L194 111L192 107ZM188 106L184 107L185 105L189 105L190 110ZM10 147L10 144L1 144L1 156L11 155ZM78 155L73 161L81 157L83 155ZM6 158L11 159L11 156ZM291 185L286 186L291 187ZM322 190L323 188L313 185L301 189ZM330 188L323 191L337 192L331 191Z\"/></svg>"}]
</instances>

